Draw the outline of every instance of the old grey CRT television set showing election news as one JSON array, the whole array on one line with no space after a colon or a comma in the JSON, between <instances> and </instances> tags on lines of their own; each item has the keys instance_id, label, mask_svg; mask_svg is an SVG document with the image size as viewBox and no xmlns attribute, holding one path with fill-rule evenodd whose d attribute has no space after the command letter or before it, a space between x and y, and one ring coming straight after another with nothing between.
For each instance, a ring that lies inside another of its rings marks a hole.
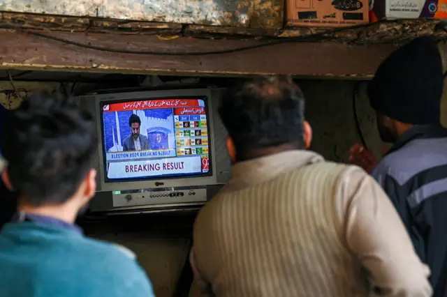
<instances>
[{"instance_id":1,"label":"old grey CRT television set showing election news","mask_svg":"<svg viewBox=\"0 0 447 297\"><path fill-rule=\"evenodd\" d=\"M93 212L198 208L230 173L223 89L101 91L80 96L96 116Z\"/></svg>"}]
</instances>

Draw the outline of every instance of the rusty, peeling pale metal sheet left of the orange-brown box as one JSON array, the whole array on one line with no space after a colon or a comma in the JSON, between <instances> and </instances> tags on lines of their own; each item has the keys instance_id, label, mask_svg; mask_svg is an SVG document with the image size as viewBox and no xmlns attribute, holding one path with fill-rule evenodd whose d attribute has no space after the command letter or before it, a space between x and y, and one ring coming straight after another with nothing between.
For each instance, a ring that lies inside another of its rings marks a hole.
<instances>
[{"instance_id":1,"label":"rusty, peeling pale metal sheet left of the orange-brown box","mask_svg":"<svg viewBox=\"0 0 447 297\"><path fill-rule=\"evenodd\" d=\"M280 29L283 0L0 0L0 10Z\"/></svg>"}]
</instances>

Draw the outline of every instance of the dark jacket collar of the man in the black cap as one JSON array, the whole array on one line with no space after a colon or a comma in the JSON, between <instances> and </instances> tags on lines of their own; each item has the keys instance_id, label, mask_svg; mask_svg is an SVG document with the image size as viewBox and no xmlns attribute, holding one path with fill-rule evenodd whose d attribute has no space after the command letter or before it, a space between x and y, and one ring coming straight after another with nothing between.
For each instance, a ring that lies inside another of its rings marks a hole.
<instances>
[{"instance_id":1,"label":"dark jacket collar of the man in the black cap","mask_svg":"<svg viewBox=\"0 0 447 297\"><path fill-rule=\"evenodd\" d=\"M397 138L396 142L391 146L386 155L393 153L404 147L414 139L429 139L429 138L443 138L447 137L447 129L441 125L415 125L404 134Z\"/></svg>"}]
</instances>

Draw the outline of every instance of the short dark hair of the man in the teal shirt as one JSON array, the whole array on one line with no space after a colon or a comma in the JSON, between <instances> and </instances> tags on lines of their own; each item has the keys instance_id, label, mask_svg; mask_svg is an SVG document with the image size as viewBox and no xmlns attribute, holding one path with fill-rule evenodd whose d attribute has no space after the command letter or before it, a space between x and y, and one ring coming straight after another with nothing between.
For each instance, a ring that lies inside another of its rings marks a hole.
<instances>
[{"instance_id":1,"label":"short dark hair of the man in the teal shirt","mask_svg":"<svg viewBox=\"0 0 447 297\"><path fill-rule=\"evenodd\" d=\"M32 206L60 204L92 168L96 132L73 98L38 93L6 116L1 146L14 190Z\"/></svg>"}]
</instances>

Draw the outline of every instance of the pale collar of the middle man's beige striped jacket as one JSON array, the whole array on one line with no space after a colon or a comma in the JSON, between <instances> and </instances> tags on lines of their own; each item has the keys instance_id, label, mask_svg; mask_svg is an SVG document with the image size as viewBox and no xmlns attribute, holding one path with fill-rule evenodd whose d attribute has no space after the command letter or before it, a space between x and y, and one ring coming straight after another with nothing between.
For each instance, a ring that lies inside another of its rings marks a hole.
<instances>
[{"instance_id":1,"label":"pale collar of the middle man's beige striped jacket","mask_svg":"<svg viewBox=\"0 0 447 297\"><path fill-rule=\"evenodd\" d=\"M224 192L242 190L291 172L293 169L323 160L324 158L318 153L293 150L239 162L233 165L231 176L222 190Z\"/></svg>"}]
</instances>

